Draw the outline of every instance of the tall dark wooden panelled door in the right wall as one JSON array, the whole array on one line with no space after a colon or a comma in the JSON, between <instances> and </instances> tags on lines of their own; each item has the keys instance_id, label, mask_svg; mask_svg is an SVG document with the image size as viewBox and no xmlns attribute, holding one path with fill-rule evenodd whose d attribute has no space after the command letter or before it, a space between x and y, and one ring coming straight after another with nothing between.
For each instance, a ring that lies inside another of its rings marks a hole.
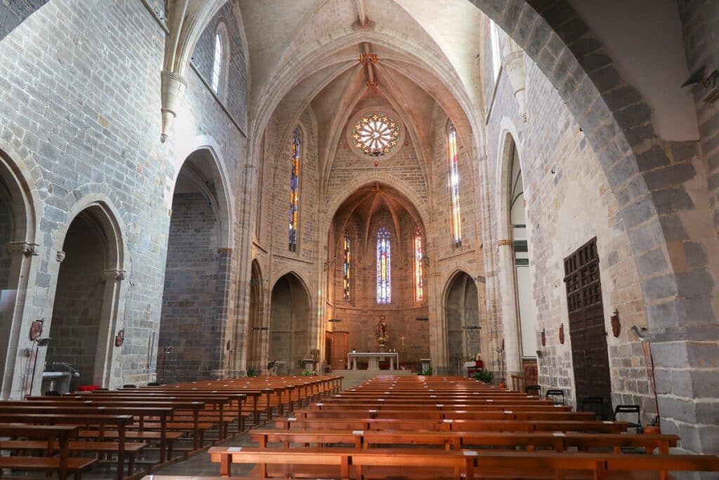
<instances>
[{"instance_id":1,"label":"tall dark wooden panelled door in the right wall","mask_svg":"<svg viewBox=\"0 0 719 480\"><path fill-rule=\"evenodd\" d=\"M585 397L603 398L608 418L612 389L596 237L564 259L564 275L577 407Z\"/></svg>"}]
</instances>

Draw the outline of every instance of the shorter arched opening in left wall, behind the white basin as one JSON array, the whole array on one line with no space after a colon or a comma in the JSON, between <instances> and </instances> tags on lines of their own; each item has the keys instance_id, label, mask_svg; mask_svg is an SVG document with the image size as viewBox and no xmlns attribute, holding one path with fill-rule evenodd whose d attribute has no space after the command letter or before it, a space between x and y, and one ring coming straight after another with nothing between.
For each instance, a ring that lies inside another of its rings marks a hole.
<instances>
[{"instance_id":1,"label":"shorter arched opening in left wall, behind the white basin","mask_svg":"<svg viewBox=\"0 0 719 480\"><path fill-rule=\"evenodd\" d=\"M83 384L108 386L122 258L119 227L102 202L70 222L58 251L62 263L45 357L49 371L77 371L70 391Z\"/></svg>"}]
</instances>

